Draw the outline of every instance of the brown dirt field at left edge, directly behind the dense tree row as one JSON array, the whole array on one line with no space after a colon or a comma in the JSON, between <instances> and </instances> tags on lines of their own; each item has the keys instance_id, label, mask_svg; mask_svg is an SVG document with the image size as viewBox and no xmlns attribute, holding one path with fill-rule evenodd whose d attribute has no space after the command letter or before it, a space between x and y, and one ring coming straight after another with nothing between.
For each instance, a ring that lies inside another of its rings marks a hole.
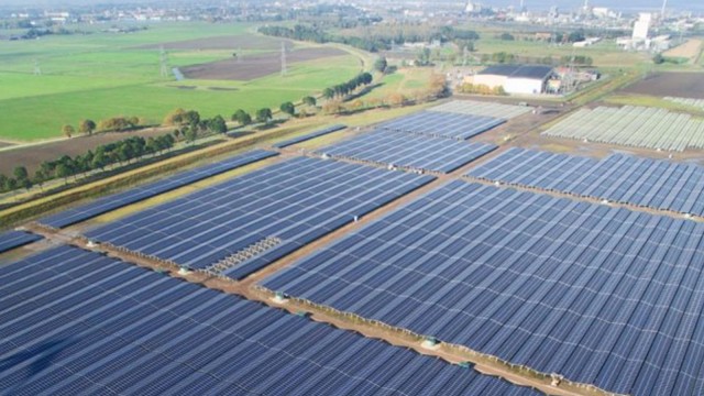
<instances>
[{"instance_id":1,"label":"brown dirt field at left edge, directly behind the dense tree row","mask_svg":"<svg viewBox=\"0 0 704 396\"><path fill-rule=\"evenodd\" d=\"M166 131L151 129L135 132L100 133L92 136L78 136L69 140L7 150L0 152L0 174L12 174L12 169L18 165L26 166L30 174L33 174L44 161L57 160L62 155L74 156L85 154L88 150L92 150L98 145L117 142L129 136L148 138L165 133Z\"/></svg>"}]
</instances>

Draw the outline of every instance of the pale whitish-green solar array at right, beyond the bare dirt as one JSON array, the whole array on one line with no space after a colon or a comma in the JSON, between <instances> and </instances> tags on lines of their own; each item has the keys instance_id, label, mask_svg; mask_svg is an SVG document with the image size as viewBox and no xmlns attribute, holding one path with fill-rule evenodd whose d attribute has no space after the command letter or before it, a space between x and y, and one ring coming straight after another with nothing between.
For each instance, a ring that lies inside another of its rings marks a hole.
<instances>
[{"instance_id":1,"label":"pale whitish-green solar array at right, beyond the bare dirt","mask_svg":"<svg viewBox=\"0 0 704 396\"><path fill-rule=\"evenodd\" d=\"M704 121L689 114L634 106L581 109L542 134L675 152L704 148Z\"/></svg>"}]
</instances>

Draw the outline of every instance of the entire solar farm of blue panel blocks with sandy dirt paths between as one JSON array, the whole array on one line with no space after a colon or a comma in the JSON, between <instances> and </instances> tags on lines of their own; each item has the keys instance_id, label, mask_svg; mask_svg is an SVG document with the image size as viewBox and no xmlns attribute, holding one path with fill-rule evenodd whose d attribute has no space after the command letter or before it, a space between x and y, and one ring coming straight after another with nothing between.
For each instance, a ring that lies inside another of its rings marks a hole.
<instances>
[{"instance_id":1,"label":"entire solar farm of blue panel blocks with sandy dirt paths between","mask_svg":"<svg viewBox=\"0 0 704 396\"><path fill-rule=\"evenodd\" d=\"M0 233L0 394L703 394L703 166L475 139L531 110L333 124Z\"/></svg>"}]
</instances>

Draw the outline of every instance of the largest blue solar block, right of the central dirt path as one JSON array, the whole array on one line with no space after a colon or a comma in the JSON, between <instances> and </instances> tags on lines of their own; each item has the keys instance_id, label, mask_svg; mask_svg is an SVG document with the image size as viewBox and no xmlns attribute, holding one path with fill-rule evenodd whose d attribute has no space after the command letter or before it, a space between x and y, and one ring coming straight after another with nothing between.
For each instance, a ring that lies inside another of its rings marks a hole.
<instances>
[{"instance_id":1,"label":"largest blue solar block, right of the central dirt path","mask_svg":"<svg viewBox=\"0 0 704 396\"><path fill-rule=\"evenodd\" d=\"M704 223L452 182L266 288L609 392L704 392Z\"/></svg>"}]
</instances>

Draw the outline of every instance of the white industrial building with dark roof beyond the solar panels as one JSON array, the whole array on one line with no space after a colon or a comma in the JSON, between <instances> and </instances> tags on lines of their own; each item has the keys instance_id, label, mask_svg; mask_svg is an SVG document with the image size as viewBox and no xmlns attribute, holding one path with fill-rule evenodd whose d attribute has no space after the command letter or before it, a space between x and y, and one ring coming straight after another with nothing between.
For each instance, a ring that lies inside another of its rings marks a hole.
<instances>
[{"instance_id":1,"label":"white industrial building with dark roof beyond the solar panels","mask_svg":"<svg viewBox=\"0 0 704 396\"><path fill-rule=\"evenodd\" d=\"M506 94L537 95L544 94L548 81L554 77L554 69L550 66L496 65L469 77L465 82L503 87Z\"/></svg>"}]
</instances>

